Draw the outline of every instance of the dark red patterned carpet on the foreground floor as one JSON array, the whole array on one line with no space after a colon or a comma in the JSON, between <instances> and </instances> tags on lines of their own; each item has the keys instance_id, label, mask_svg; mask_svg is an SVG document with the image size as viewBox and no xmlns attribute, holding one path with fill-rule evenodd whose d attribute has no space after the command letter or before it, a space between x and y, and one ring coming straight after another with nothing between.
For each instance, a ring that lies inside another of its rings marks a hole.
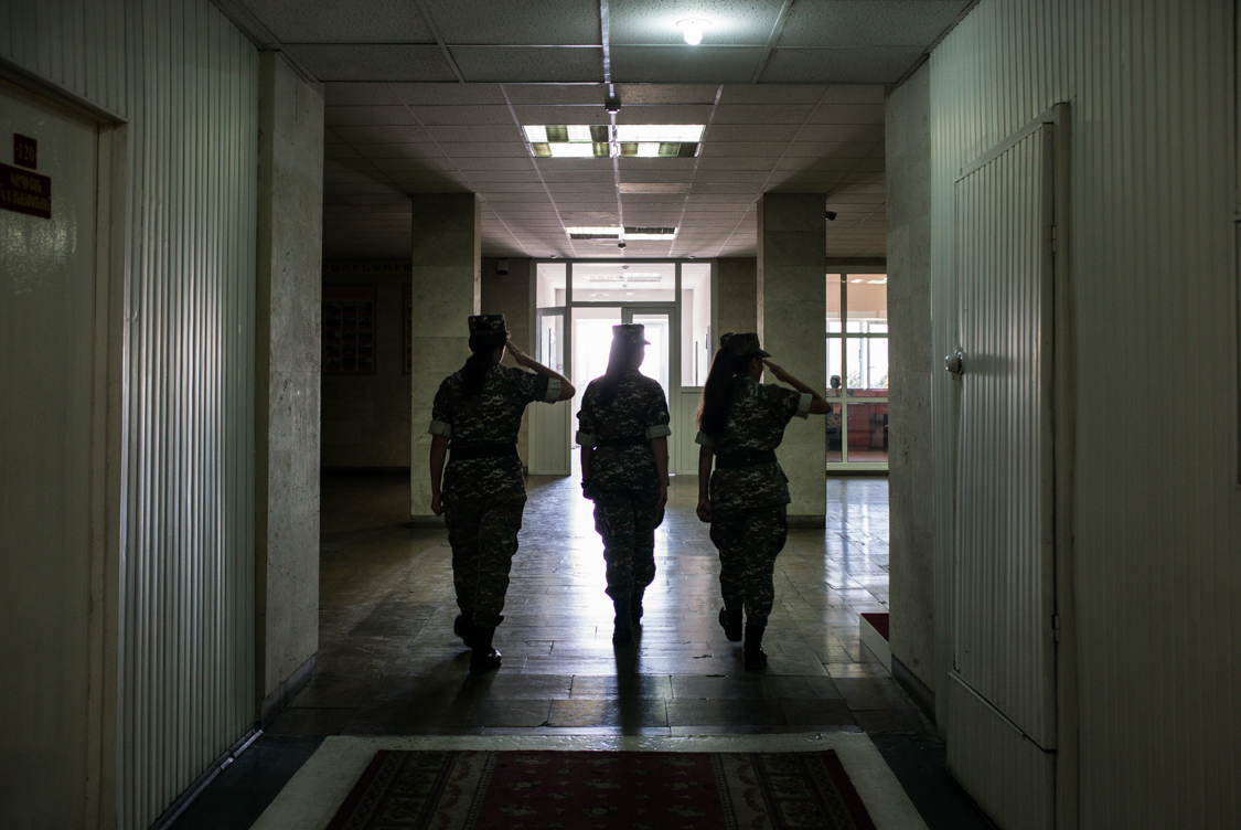
<instances>
[{"instance_id":1,"label":"dark red patterned carpet on the foreground floor","mask_svg":"<svg viewBox=\"0 0 1241 830\"><path fill-rule=\"evenodd\" d=\"M379 752L328 830L874 830L835 752Z\"/></svg>"}]
</instances>

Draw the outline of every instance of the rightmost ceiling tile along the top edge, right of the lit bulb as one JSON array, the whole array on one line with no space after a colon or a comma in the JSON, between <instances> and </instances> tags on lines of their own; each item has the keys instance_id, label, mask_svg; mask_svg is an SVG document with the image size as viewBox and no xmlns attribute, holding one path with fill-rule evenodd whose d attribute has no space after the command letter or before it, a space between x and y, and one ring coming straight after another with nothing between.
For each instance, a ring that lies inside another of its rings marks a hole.
<instances>
[{"instance_id":1,"label":"rightmost ceiling tile along the top edge, right of the lit bulb","mask_svg":"<svg viewBox=\"0 0 1241 830\"><path fill-rule=\"evenodd\" d=\"M968 0L827 0L794 2L777 47L913 46L926 48Z\"/></svg>"}]
</instances>

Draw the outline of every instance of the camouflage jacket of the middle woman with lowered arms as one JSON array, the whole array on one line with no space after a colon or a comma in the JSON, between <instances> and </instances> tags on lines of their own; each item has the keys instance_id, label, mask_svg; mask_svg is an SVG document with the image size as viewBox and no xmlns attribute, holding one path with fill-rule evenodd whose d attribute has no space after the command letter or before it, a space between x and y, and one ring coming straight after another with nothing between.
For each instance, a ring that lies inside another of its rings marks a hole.
<instances>
[{"instance_id":1,"label":"camouflage jacket of the middle woman with lowered arms","mask_svg":"<svg viewBox=\"0 0 1241 830\"><path fill-rule=\"evenodd\" d=\"M673 434L668 425L668 401L658 380L638 369L627 369L617 386L612 404L599 403L596 378L582 395L582 411L577 414L577 442L583 447L597 446L608 439L644 437L648 444L598 447L591 456L591 490L638 490L654 492L655 456L649 441Z\"/></svg>"}]
</instances>

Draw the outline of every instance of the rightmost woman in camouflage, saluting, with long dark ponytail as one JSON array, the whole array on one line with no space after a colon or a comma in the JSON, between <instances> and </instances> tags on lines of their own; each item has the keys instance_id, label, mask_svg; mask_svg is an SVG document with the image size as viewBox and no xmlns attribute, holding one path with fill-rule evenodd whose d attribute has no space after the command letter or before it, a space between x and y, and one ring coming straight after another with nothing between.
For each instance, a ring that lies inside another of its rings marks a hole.
<instances>
[{"instance_id":1,"label":"rightmost woman in camouflage, saluting, with long dark ponytail","mask_svg":"<svg viewBox=\"0 0 1241 830\"><path fill-rule=\"evenodd\" d=\"M767 665L763 630L776 594L776 555L788 534L786 506L792 501L776 447L794 415L805 417L830 408L818 391L763 359L768 357L757 334L720 338L702 386L695 439L702 445L697 514L711 523L711 542L720 550L720 625L730 640L740 640L745 608L746 668L752 670ZM793 389L758 383L764 363Z\"/></svg>"}]
</instances>

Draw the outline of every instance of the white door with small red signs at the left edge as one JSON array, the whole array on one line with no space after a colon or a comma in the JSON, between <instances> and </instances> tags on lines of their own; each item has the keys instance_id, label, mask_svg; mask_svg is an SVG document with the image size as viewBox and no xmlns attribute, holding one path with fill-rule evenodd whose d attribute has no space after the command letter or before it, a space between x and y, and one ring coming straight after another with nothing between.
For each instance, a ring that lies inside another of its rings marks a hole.
<instances>
[{"instance_id":1,"label":"white door with small red signs at the left edge","mask_svg":"<svg viewBox=\"0 0 1241 830\"><path fill-rule=\"evenodd\" d=\"M5 828L87 825L97 133L0 82Z\"/></svg>"}]
</instances>

